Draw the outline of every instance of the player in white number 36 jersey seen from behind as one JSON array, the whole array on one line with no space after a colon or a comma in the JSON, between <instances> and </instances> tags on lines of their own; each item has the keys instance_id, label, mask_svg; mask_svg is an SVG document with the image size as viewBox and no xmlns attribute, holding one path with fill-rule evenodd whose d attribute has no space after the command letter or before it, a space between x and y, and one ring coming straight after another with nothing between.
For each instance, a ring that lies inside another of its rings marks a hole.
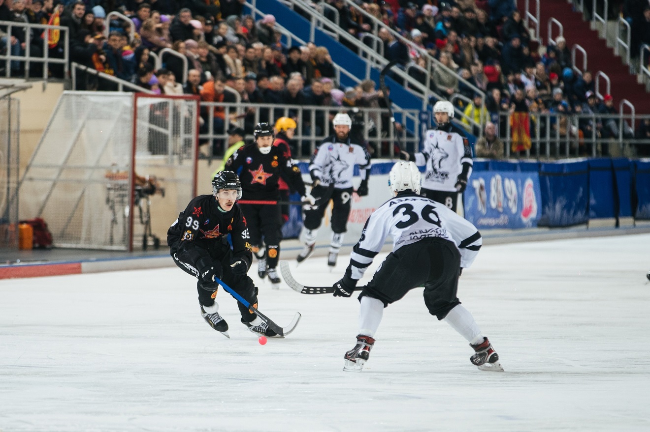
<instances>
[{"instance_id":1,"label":"player in white number 36 jersey seen from behind","mask_svg":"<svg viewBox=\"0 0 650 432\"><path fill-rule=\"evenodd\" d=\"M447 321L469 341L475 352L469 359L473 365L502 371L499 355L456 297L458 276L476 258L481 235L473 224L443 204L421 197L420 181L415 163L395 163L389 177L395 196L370 215L343 279L333 285L335 296L351 296L386 236L393 237L393 252L359 294L359 335L356 346L345 353L343 370L360 372L363 368L383 308L424 285L424 304L431 315Z\"/></svg>"}]
</instances>

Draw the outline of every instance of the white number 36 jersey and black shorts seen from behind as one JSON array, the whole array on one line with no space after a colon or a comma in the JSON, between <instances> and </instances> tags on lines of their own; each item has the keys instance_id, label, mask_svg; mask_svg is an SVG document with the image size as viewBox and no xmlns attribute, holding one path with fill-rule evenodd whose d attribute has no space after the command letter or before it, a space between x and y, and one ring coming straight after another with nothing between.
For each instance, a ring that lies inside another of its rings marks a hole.
<instances>
[{"instance_id":1,"label":"white number 36 jersey and black shorts seen from behind","mask_svg":"<svg viewBox=\"0 0 650 432\"><path fill-rule=\"evenodd\" d=\"M374 211L350 254L346 276L359 280L388 235L393 252L383 261L359 298L370 296L384 306L424 285L424 302L443 319L454 306L461 268L470 267L482 245L476 227L443 204L402 192Z\"/></svg>"}]
</instances>

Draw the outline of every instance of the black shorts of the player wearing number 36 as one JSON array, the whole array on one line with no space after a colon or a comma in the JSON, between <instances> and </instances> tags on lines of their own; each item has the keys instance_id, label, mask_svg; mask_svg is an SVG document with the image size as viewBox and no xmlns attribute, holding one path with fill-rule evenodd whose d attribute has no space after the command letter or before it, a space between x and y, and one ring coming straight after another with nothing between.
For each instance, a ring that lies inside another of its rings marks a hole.
<instances>
[{"instance_id":1,"label":"black shorts of the player wearing number 36","mask_svg":"<svg viewBox=\"0 0 650 432\"><path fill-rule=\"evenodd\" d=\"M454 243L437 237L422 239L388 254L359 300L374 297L385 307L424 285L424 304L441 320L460 304L456 297L459 275L460 252Z\"/></svg>"}]
</instances>

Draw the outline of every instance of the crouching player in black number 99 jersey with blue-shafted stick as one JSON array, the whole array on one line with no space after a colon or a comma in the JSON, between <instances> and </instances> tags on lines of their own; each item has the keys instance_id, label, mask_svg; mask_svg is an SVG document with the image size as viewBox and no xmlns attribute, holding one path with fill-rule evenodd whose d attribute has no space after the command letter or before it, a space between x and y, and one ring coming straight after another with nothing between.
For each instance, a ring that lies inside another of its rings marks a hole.
<instances>
[{"instance_id":1,"label":"crouching player in black number 99 jersey with blue-shafted stick","mask_svg":"<svg viewBox=\"0 0 650 432\"><path fill-rule=\"evenodd\" d=\"M201 316L226 337L228 324L218 313L214 276L225 282L250 304L257 307L257 287L246 274L253 259L246 219L235 202L241 198L237 174L220 171L212 181L213 195L199 195L181 211L167 231L167 244L174 263L198 278ZM230 234L233 246L229 245ZM276 336L261 318L238 303L241 322L253 333Z\"/></svg>"}]
</instances>

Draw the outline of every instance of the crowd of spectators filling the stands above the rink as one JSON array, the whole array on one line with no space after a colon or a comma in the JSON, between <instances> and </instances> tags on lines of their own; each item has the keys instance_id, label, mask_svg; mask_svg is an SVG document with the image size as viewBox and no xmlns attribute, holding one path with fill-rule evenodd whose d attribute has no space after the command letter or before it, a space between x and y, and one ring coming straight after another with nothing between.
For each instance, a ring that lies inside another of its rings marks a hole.
<instances>
[{"instance_id":1,"label":"crowd of spectators filling the stands above the rink","mask_svg":"<svg viewBox=\"0 0 650 432\"><path fill-rule=\"evenodd\" d=\"M333 108L333 114L337 107L383 106L383 95L374 88L374 82L363 82L356 88L339 87L335 66L325 47L313 43L285 46L275 28L274 16L255 20L243 15L244 0L148 1L0 0L0 20L48 23L53 14L60 14L60 24L70 29L72 62L155 93L194 94L210 102L316 105ZM325 1L337 10L339 25L346 32L361 36L371 28L369 18L343 0ZM551 126L564 136L618 136L621 125L614 120L582 120L577 126L579 131L568 124L568 114L616 113L612 96L598 100L593 74L574 73L571 53L562 36L540 50L538 42L531 40L514 1L367 0L359 5L411 42L396 39L385 28L377 33L385 58L396 60L398 67L422 84L429 82L431 90L440 97L454 100L465 113L463 124L469 132L480 134L477 125L485 125L489 119L498 134L504 136L506 117L499 112L529 112L534 130L539 129L535 122L544 118L536 120L534 114L557 113ZM626 0L621 6L623 12L629 12L634 43L645 43L650 34L647 0ZM131 18L136 30L133 38L126 21L106 20L107 13L112 11ZM108 38L104 36L105 26L109 27ZM30 55L42 55L44 35L28 37L26 33L19 27L14 27L11 34L0 33L0 49L24 55L30 40ZM48 55L60 56L61 43L50 45ZM162 49L172 49L179 55L165 53L159 67L151 53L159 54ZM426 65L425 56L446 66L434 66L429 71L430 80L428 72L411 67ZM183 58L187 60L187 72ZM14 69L21 73L23 65L24 62L12 62L12 73ZM31 72L42 75L38 66L32 67ZM56 75L60 71L51 67L49 73ZM98 80L92 73L81 73L77 78L79 89L116 88L114 83ZM484 105L480 93L473 88L486 94ZM214 132L219 134L225 134L237 121L235 114L224 108L216 108L211 114L213 118L208 119L203 112L203 127L211 122ZM326 117L333 114L326 110L318 112L315 121L304 115L300 122L302 133L328 132ZM282 110L260 110L259 119L272 122L281 115ZM247 110L246 133L252 132L254 121L253 110ZM390 127L388 116L374 115L365 127L370 136L379 136ZM631 132L624 133L627 136ZM214 144L214 153L222 152L219 146Z\"/></svg>"}]
</instances>

